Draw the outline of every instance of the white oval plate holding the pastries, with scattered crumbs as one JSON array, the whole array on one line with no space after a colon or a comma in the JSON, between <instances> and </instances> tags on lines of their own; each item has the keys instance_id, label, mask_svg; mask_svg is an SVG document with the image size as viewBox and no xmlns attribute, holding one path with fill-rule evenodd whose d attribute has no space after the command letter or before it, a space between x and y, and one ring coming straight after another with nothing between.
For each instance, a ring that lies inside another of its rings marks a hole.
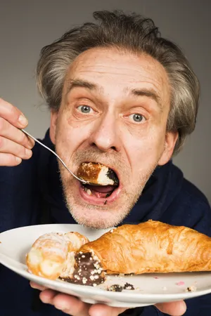
<instances>
[{"instance_id":1,"label":"white oval plate holding the pastries, with scattered crumbs","mask_svg":"<svg viewBox=\"0 0 211 316\"><path fill-rule=\"evenodd\" d=\"M89 230L80 225L70 224L35 225L8 230L0 234L0 263L44 287L78 296L87 303L100 302L110 306L132 308L211 293L211 272L148 274L129 277L110 276L106 284L103 284L104 289L101 288L102 286L89 287L60 280L52 281L27 272L25 254L30 250L35 239L46 232L70 231L80 232L86 235L89 240L96 239L106 232L106 230ZM135 290L106 291L106 286L124 285L126 282L133 284ZM186 292L187 287L191 286L196 287L196 291Z\"/></svg>"}]
</instances>

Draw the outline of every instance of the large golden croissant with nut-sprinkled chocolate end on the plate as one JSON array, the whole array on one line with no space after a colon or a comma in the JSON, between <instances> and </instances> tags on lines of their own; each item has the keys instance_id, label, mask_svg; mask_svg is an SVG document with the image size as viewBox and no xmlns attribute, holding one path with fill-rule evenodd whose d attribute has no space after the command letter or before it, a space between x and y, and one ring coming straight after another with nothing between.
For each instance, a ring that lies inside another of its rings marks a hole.
<instances>
[{"instance_id":1,"label":"large golden croissant with nut-sprinkled chocolate end on the plate","mask_svg":"<svg viewBox=\"0 0 211 316\"><path fill-rule=\"evenodd\" d=\"M148 220L122 225L75 254L75 279L94 285L107 274L211 270L211 238L184 226Z\"/></svg>"}]
</instances>

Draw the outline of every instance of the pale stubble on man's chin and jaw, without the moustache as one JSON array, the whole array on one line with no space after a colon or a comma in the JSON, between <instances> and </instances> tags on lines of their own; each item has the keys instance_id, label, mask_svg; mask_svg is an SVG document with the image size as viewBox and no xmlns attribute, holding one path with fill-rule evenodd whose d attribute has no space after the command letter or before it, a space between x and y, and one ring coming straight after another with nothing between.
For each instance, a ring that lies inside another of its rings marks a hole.
<instances>
[{"instance_id":1,"label":"pale stubble on man's chin and jaw, without the moustache","mask_svg":"<svg viewBox=\"0 0 211 316\"><path fill-rule=\"evenodd\" d=\"M70 176L63 165L59 164L66 206L79 225L95 229L115 227L129 215L156 166L157 164L154 164L145 171L144 175L141 174L137 179L137 183L132 183L128 187L126 185L122 189L121 196L113 204L101 206L88 204L75 197L72 194L75 188L75 179ZM94 214L94 216L91 216L91 214Z\"/></svg>"}]
</instances>

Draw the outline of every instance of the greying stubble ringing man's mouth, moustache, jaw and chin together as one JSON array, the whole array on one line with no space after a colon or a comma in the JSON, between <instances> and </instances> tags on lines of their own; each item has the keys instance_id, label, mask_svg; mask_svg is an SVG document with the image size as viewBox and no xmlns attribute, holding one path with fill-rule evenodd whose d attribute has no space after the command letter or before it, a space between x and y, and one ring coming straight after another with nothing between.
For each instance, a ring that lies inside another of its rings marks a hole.
<instances>
[{"instance_id":1,"label":"greying stubble ringing man's mouth, moustache, jaw and chin together","mask_svg":"<svg viewBox=\"0 0 211 316\"><path fill-rule=\"evenodd\" d=\"M58 150L57 145L58 143L56 144L56 152L72 171L76 172L82 162L100 162L108 166L115 166L115 169L121 173L120 183L122 181L123 186L120 196L110 205L93 205L82 200L76 189L77 180L58 161L66 206L75 221L87 228L106 229L122 223L122 220L126 218L139 199L148 178L150 178L160 159L160 157L155 159L146 169L136 170L135 173L139 173L139 176L133 179L128 162L118 152L110 154L101 152L97 147L90 147L74 152L72 156L68 156L69 162L67 162L68 159L65 155L68 155L68 153L64 153L62 148Z\"/></svg>"}]
</instances>

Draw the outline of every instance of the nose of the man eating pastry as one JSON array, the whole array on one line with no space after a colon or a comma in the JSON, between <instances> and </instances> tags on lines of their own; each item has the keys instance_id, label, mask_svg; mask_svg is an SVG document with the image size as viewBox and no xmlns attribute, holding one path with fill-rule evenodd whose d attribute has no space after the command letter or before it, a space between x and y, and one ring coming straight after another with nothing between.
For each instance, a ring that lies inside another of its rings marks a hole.
<instances>
[{"instance_id":1,"label":"nose of the man eating pastry","mask_svg":"<svg viewBox=\"0 0 211 316\"><path fill-rule=\"evenodd\" d=\"M89 138L91 146L98 147L102 152L110 150L120 151L120 131L118 122L113 113L107 113L99 119L94 126L94 130Z\"/></svg>"}]
</instances>

